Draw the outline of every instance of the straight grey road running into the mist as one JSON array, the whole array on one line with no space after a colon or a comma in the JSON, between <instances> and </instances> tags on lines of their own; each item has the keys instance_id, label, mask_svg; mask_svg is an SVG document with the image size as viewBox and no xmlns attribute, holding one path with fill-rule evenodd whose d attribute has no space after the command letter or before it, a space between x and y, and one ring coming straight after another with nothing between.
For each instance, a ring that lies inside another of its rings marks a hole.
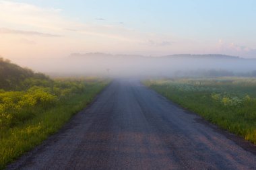
<instances>
[{"instance_id":1,"label":"straight grey road running into the mist","mask_svg":"<svg viewBox=\"0 0 256 170\"><path fill-rule=\"evenodd\" d=\"M255 146L238 142L139 81L119 80L7 169L256 169Z\"/></svg>"}]
</instances>

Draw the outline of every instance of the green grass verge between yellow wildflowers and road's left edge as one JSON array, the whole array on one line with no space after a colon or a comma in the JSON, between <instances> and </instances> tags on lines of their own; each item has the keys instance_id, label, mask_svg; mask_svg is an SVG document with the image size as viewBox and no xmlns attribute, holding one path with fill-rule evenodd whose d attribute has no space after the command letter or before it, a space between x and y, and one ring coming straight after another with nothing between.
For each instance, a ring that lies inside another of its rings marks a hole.
<instances>
[{"instance_id":1,"label":"green grass verge between yellow wildflowers and road's left edge","mask_svg":"<svg viewBox=\"0 0 256 170\"><path fill-rule=\"evenodd\" d=\"M85 108L107 84L108 81L86 83L82 93L67 95L50 108L33 108L31 118L20 119L15 126L0 128L0 169L4 169L7 163L11 163L57 132L73 114Z\"/></svg>"}]
</instances>

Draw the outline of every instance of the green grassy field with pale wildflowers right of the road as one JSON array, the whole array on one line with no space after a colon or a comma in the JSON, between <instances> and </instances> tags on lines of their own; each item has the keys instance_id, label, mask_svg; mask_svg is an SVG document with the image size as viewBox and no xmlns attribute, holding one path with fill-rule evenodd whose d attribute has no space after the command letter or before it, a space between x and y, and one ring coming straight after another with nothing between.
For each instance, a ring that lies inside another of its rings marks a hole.
<instances>
[{"instance_id":1,"label":"green grassy field with pale wildflowers right of the road","mask_svg":"<svg viewBox=\"0 0 256 170\"><path fill-rule=\"evenodd\" d=\"M256 144L256 79L158 79L143 83L205 120Z\"/></svg>"}]
</instances>

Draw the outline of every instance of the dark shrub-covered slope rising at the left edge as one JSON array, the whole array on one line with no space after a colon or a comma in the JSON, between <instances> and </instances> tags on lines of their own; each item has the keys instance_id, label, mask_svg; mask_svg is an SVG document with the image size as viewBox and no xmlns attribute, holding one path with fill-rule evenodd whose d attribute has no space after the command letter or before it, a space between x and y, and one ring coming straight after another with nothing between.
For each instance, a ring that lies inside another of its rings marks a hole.
<instances>
[{"instance_id":1,"label":"dark shrub-covered slope rising at the left edge","mask_svg":"<svg viewBox=\"0 0 256 170\"><path fill-rule=\"evenodd\" d=\"M34 73L30 69L22 68L9 60L0 58L0 89L17 89L24 80L30 78L49 80L49 77L42 73Z\"/></svg>"}]
</instances>

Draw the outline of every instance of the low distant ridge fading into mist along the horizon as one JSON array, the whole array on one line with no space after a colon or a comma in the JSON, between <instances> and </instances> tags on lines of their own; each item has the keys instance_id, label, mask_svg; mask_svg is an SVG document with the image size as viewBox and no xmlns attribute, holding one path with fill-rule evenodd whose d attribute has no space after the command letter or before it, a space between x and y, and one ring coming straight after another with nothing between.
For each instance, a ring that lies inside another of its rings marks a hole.
<instances>
[{"instance_id":1,"label":"low distant ridge fading into mist along the horizon","mask_svg":"<svg viewBox=\"0 0 256 170\"><path fill-rule=\"evenodd\" d=\"M174 54L168 56L140 56L125 54L71 54L69 63L82 71L109 75L141 76L228 76L256 70L256 59L222 54Z\"/></svg>"}]
</instances>

